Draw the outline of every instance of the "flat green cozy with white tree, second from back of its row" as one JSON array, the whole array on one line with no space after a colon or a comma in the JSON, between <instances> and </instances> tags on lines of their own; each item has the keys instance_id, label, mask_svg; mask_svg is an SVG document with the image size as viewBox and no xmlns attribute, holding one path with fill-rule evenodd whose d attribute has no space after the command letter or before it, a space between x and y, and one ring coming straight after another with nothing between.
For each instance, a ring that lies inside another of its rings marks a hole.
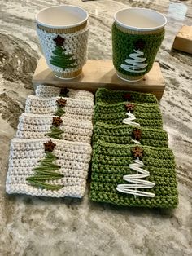
<instances>
[{"instance_id":1,"label":"flat green cozy with white tree, second from back of its row","mask_svg":"<svg viewBox=\"0 0 192 256\"><path fill-rule=\"evenodd\" d=\"M99 102L95 105L94 122L101 121L107 124L162 127L162 117L158 104L130 104L120 102L107 104Z\"/></svg>"}]
</instances>

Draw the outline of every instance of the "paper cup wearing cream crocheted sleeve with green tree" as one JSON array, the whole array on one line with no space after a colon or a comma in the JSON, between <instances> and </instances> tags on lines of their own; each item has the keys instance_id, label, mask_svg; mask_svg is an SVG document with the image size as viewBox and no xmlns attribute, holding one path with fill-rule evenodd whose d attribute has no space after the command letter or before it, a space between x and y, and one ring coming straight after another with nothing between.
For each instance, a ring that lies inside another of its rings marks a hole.
<instances>
[{"instance_id":1,"label":"paper cup wearing cream crocheted sleeve with green tree","mask_svg":"<svg viewBox=\"0 0 192 256\"><path fill-rule=\"evenodd\" d=\"M46 63L56 77L72 79L87 60L88 13L81 7L47 7L36 15L37 34Z\"/></svg>"}]
</instances>

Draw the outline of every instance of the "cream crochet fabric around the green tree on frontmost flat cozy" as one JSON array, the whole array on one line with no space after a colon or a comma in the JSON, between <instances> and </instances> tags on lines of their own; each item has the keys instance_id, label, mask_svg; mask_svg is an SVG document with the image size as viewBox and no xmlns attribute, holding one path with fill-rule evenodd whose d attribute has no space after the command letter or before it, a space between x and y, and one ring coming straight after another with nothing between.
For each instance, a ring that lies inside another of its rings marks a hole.
<instances>
[{"instance_id":1,"label":"cream crochet fabric around the green tree on frontmost flat cozy","mask_svg":"<svg viewBox=\"0 0 192 256\"><path fill-rule=\"evenodd\" d=\"M82 197L91 159L91 146L88 143L69 142L51 139L56 144L53 153L55 164L61 166L57 172L63 178L47 183L63 185L59 190L37 188L32 186L26 178L34 175L33 168L45 157L44 143L49 139L13 139L7 172L6 191L9 194L21 193L33 196L51 197Z\"/></svg>"}]
</instances>

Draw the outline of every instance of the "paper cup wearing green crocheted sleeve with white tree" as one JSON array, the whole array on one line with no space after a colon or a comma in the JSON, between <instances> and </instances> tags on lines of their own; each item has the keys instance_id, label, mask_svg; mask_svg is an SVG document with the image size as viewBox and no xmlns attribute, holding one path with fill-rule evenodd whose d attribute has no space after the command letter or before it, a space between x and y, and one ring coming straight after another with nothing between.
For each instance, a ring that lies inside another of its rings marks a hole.
<instances>
[{"instance_id":1,"label":"paper cup wearing green crocheted sleeve with white tree","mask_svg":"<svg viewBox=\"0 0 192 256\"><path fill-rule=\"evenodd\" d=\"M127 8L117 11L114 20L112 51L117 76L141 80L153 66L167 19L151 9Z\"/></svg>"}]
</instances>

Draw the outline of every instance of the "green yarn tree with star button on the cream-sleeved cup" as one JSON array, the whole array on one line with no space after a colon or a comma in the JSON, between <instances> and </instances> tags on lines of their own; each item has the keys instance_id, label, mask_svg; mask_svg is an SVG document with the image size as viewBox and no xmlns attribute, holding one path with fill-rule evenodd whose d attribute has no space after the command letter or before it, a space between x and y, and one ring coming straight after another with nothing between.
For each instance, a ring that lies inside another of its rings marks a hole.
<instances>
[{"instance_id":1,"label":"green yarn tree with star button on the cream-sleeved cup","mask_svg":"<svg viewBox=\"0 0 192 256\"><path fill-rule=\"evenodd\" d=\"M76 64L74 64L76 60L72 58L73 55L65 52L64 41L65 39L59 35L54 39L56 46L55 50L52 51L53 55L51 56L50 64L63 69L76 68Z\"/></svg>"}]
</instances>

